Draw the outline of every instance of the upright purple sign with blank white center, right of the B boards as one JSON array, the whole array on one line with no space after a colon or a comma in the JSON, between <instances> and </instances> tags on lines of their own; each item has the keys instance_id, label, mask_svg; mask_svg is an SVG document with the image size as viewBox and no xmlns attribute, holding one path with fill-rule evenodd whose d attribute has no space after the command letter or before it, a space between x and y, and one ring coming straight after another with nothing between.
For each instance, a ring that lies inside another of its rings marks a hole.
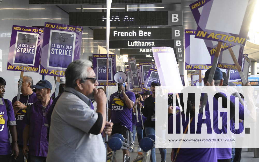
<instances>
[{"instance_id":1,"label":"upright purple sign with blank white center, right of the B boards","mask_svg":"<svg viewBox=\"0 0 259 162\"><path fill-rule=\"evenodd\" d=\"M214 56L207 51L203 39L195 38L196 30L185 30L185 70L208 70Z\"/></svg>"}]
</instances>

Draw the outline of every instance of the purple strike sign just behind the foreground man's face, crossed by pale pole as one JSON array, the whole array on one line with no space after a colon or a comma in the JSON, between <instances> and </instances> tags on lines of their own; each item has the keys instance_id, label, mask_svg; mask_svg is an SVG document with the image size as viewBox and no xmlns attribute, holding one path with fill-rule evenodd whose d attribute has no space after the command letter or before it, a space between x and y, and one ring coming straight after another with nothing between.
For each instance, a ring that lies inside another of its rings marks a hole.
<instances>
[{"instance_id":1,"label":"purple strike sign just behind the foreground man's face, crossed by pale pole","mask_svg":"<svg viewBox=\"0 0 259 162\"><path fill-rule=\"evenodd\" d=\"M93 54L93 71L96 74L98 86L106 86L107 73L107 54ZM116 57L115 54L109 54L109 67L108 67L108 86L116 86L113 76L116 73Z\"/></svg>"}]
</instances>

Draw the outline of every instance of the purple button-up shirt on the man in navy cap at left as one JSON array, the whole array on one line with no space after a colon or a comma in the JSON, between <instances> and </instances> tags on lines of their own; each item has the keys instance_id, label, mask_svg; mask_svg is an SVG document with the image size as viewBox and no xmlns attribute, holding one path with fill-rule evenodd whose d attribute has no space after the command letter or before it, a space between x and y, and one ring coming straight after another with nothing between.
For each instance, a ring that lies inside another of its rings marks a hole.
<instances>
[{"instance_id":1,"label":"purple button-up shirt on the man in navy cap at left","mask_svg":"<svg viewBox=\"0 0 259 162\"><path fill-rule=\"evenodd\" d=\"M50 98L49 104L46 107L46 116L44 117L42 111L42 104L40 101L35 102L31 106L31 114L28 115L28 111L25 114L24 122L30 125L29 134L29 151L32 156L42 156L47 157L48 153L48 140L47 140L47 130L49 126L49 121L47 117L48 112L52 110L49 109L53 100Z\"/></svg>"}]
</instances>

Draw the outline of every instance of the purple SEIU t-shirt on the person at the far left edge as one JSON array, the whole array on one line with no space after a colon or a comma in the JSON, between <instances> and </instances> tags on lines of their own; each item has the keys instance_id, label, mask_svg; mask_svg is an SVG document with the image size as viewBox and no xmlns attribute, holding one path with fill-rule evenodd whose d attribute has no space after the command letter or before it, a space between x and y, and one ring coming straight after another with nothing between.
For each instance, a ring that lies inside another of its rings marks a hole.
<instances>
[{"instance_id":1,"label":"purple SEIU t-shirt on the person at the far left edge","mask_svg":"<svg viewBox=\"0 0 259 162\"><path fill-rule=\"evenodd\" d=\"M6 99L8 105L5 106L4 99L0 99L3 103L3 105L0 104L0 155L9 155L11 154L11 143L8 125L15 125L15 114L11 101Z\"/></svg>"}]
</instances>

